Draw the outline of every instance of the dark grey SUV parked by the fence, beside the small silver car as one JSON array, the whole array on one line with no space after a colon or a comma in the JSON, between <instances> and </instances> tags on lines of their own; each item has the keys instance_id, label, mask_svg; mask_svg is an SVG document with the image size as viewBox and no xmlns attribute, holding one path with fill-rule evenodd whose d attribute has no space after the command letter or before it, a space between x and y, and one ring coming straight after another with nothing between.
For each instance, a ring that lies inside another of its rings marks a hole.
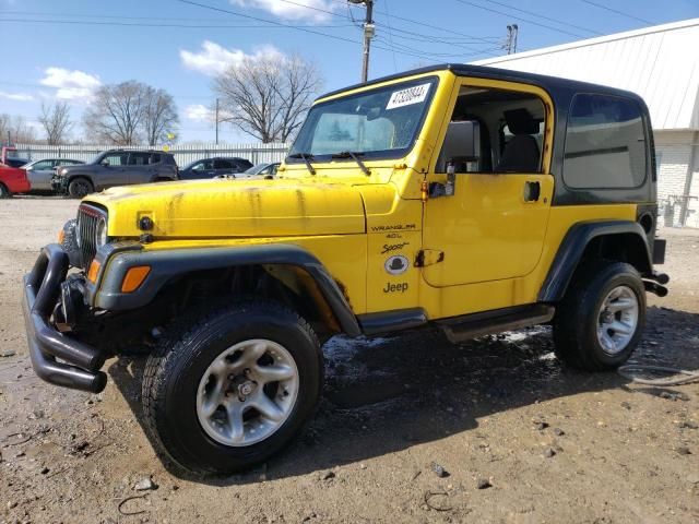
<instances>
[{"instance_id":1,"label":"dark grey SUV parked by the fence, beside the small silver car","mask_svg":"<svg viewBox=\"0 0 699 524\"><path fill-rule=\"evenodd\" d=\"M110 150L81 166L56 170L54 190L82 199L114 186L177 180L177 164L163 151Z\"/></svg>"}]
</instances>

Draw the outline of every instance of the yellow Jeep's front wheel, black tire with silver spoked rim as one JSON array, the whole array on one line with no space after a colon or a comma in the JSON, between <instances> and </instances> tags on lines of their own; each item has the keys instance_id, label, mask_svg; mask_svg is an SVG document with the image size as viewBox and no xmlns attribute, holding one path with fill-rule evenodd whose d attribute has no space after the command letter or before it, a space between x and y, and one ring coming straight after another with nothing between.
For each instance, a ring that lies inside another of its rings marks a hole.
<instances>
[{"instance_id":1,"label":"yellow Jeep's front wheel, black tire with silver spoked rim","mask_svg":"<svg viewBox=\"0 0 699 524\"><path fill-rule=\"evenodd\" d=\"M315 412L323 383L322 354L309 324L276 302L245 301L176 325L149 357L143 377L145 427L156 452L187 472L210 475L248 469L285 448ZM257 358L262 345L268 349ZM256 373L272 354L284 369L295 366L296 378L262 386ZM289 358L294 366L286 366ZM283 417L272 410L274 421L251 407L269 409L261 395ZM239 417L229 418L220 398L240 409ZM230 420L239 421L237 432Z\"/></svg>"}]
</instances>

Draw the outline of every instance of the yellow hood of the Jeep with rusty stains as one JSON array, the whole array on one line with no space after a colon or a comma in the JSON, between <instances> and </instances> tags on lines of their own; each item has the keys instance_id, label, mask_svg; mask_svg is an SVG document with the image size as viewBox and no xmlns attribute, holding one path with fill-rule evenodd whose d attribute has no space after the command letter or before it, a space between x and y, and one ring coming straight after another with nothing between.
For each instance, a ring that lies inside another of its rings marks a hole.
<instances>
[{"instance_id":1,"label":"yellow hood of the Jeep with rusty stains","mask_svg":"<svg viewBox=\"0 0 699 524\"><path fill-rule=\"evenodd\" d=\"M125 186L90 195L108 211L108 235L135 237L141 217L157 237L224 238L365 231L362 194L332 180L187 180Z\"/></svg>"}]
</instances>

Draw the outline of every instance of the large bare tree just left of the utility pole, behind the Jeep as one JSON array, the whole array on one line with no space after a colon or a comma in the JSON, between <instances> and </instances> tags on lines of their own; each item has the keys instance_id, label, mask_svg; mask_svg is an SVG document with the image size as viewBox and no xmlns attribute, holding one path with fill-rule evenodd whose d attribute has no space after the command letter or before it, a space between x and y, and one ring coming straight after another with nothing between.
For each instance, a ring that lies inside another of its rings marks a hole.
<instances>
[{"instance_id":1,"label":"large bare tree just left of the utility pole, behind the Jeep","mask_svg":"<svg viewBox=\"0 0 699 524\"><path fill-rule=\"evenodd\" d=\"M286 142L320 87L318 68L298 56L245 58L214 80L222 121L269 142Z\"/></svg>"}]
</instances>

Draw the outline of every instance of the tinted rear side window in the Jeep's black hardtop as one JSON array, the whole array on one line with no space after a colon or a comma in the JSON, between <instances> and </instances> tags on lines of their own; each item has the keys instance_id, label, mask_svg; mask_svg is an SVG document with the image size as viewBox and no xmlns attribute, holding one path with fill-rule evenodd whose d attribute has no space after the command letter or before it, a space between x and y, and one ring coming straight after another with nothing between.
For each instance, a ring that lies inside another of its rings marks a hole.
<instances>
[{"instance_id":1,"label":"tinted rear side window in the Jeep's black hardtop","mask_svg":"<svg viewBox=\"0 0 699 524\"><path fill-rule=\"evenodd\" d=\"M566 186L638 188L645 179L645 132L635 100L593 94L573 97L566 130Z\"/></svg>"}]
</instances>

